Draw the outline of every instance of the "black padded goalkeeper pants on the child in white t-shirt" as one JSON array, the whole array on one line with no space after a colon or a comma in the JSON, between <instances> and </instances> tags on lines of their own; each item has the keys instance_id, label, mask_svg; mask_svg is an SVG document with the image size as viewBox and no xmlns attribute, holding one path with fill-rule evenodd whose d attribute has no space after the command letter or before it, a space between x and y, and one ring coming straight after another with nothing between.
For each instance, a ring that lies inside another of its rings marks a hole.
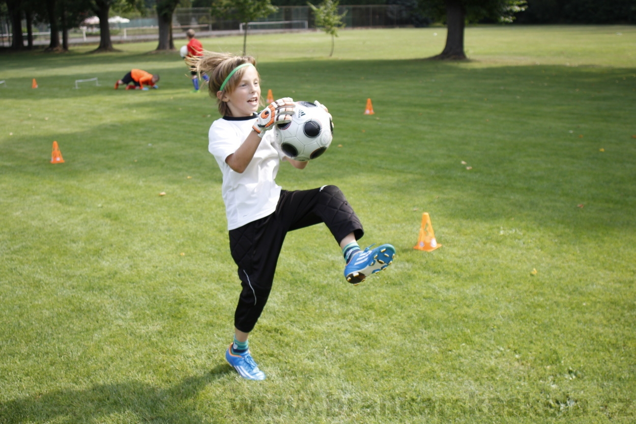
<instances>
[{"instance_id":1,"label":"black padded goalkeeper pants on the child in white t-shirt","mask_svg":"<svg viewBox=\"0 0 636 424\"><path fill-rule=\"evenodd\" d=\"M234 314L234 325L249 333L256 325L272 290L276 264L287 232L324 222L336 242L364 230L340 188L326 185L313 190L282 190L276 211L230 230L230 251L239 266L243 287Z\"/></svg>"}]
</instances>

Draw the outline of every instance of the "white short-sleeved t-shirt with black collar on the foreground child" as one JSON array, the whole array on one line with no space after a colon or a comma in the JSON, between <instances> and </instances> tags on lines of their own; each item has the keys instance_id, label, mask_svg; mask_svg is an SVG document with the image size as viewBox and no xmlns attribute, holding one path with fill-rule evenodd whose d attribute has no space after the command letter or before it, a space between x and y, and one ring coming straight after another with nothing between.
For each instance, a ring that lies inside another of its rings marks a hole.
<instances>
[{"instance_id":1,"label":"white short-sleeved t-shirt with black collar on the foreground child","mask_svg":"<svg viewBox=\"0 0 636 424\"><path fill-rule=\"evenodd\" d=\"M274 179L280 159L285 156L274 143L271 131L263 136L243 173L233 171L225 163L225 159L243 144L255 122L256 116L223 117L212 122L208 134L208 150L214 155L223 173L221 192L228 218L228 230L272 214L279 201L280 186Z\"/></svg>"}]
</instances>

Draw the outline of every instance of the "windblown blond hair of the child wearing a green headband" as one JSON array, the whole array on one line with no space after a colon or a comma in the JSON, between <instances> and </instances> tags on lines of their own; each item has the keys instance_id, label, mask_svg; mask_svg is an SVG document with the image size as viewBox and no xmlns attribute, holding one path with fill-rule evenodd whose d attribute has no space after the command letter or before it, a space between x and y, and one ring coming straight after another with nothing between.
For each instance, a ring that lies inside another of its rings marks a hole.
<instances>
[{"instance_id":1,"label":"windblown blond hair of the child wearing a green headband","mask_svg":"<svg viewBox=\"0 0 636 424\"><path fill-rule=\"evenodd\" d=\"M256 66L256 60L251 56L235 56L231 53L207 52L206 50L202 53L202 56L186 57L186 62L190 65L190 69L197 72L197 74L206 74L209 76L210 80L207 82L207 89L210 92L210 97L217 99L219 113L221 113L222 116L231 116L232 113L230 112L227 102L219 99L216 94L221 90L221 85L223 85L225 78L227 78L237 66L246 63ZM226 94L232 94L239 85L244 73L245 69L242 68L232 75L230 80L225 84L225 87L223 87L221 98ZM259 75L258 78L260 79L261 76ZM263 104L262 98L259 99L259 104Z\"/></svg>"}]
</instances>

